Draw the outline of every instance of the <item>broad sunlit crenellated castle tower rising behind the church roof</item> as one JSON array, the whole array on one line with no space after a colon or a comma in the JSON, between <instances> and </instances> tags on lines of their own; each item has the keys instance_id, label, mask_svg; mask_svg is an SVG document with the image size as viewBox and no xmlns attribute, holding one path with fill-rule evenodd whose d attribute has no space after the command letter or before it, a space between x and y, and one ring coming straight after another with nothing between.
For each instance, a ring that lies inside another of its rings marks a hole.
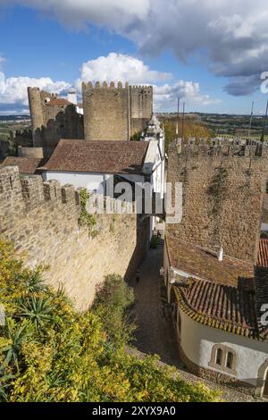
<instances>
[{"instance_id":1,"label":"broad sunlit crenellated castle tower rising behind the church roof","mask_svg":"<svg viewBox=\"0 0 268 420\"><path fill-rule=\"evenodd\" d=\"M153 87L82 84L87 140L129 140L144 129L153 113Z\"/></svg>"}]
</instances>

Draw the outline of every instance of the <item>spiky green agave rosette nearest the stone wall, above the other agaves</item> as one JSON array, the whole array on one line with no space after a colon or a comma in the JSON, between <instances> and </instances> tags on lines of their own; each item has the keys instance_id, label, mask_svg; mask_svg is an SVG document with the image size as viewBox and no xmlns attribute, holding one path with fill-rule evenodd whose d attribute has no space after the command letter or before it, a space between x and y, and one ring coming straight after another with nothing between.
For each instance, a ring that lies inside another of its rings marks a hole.
<instances>
[{"instance_id":1,"label":"spiky green agave rosette nearest the stone wall, above the other agaves","mask_svg":"<svg viewBox=\"0 0 268 420\"><path fill-rule=\"evenodd\" d=\"M53 321L53 298L32 297L21 299L17 316L29 318L37 329L43 327L47 322Z\"/></svg>"}]
</instances>

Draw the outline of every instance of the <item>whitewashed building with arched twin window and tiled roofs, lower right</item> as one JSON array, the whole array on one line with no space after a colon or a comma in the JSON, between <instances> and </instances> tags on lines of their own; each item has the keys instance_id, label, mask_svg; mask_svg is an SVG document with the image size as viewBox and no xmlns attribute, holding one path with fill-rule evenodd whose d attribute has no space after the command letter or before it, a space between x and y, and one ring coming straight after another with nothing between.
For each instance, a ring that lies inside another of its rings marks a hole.
<instances>
[{"instance_id":1,"label":"whitewashed building with arched twin window and tiled roofs, lower right","mask_svg":"<svg viewBox=\"0 0 268 420\"><path fill-rule=\"evenodd\" d=\"M181 360L194 374L265 398L267 256L253 267L172 236L165 240L164 277Z\"/></svg>"}]
</instances>

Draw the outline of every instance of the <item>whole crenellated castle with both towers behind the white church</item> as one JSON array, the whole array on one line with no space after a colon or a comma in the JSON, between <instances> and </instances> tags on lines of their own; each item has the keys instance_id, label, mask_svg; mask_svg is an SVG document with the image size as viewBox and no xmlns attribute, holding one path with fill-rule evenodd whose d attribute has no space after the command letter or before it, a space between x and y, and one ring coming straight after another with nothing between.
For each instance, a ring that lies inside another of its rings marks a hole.
<instances>
[{"instance_id":1,"label":"whole crenellated castle with both towers behind the white church","mask_svg":"<svg viewBox=\"0 0 268 420\"><path fill-rule=\"evenodd\" d=\"M28 96L35 157L52 155L60 139L130 140L153 113L152 86L83 83L82 104L72 90L67 99L39 88L28 88Z\"/></svg>"}]
</instances>

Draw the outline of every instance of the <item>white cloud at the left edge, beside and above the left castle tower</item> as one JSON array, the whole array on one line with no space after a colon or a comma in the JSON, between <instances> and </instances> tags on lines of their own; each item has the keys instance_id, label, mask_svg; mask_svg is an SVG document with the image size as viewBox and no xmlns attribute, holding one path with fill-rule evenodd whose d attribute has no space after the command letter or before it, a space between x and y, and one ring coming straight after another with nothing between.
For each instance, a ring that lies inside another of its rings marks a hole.
<instances>
[{"instance_id":1,"label":"white cloud at the left edge, beside and above the left castle tower","mask_svg":"<svg viewBox=\"0 0 268 420\"><path fill-rule=\"evenodd\" d=\"M28 105L27 88L34 86L48 92L61 93L70 88L71 84L65 81L54 82L50 78L11 77L6 79L4 72L0 71L0 105L25 108Z\"/></svg>"}]
</instances>

